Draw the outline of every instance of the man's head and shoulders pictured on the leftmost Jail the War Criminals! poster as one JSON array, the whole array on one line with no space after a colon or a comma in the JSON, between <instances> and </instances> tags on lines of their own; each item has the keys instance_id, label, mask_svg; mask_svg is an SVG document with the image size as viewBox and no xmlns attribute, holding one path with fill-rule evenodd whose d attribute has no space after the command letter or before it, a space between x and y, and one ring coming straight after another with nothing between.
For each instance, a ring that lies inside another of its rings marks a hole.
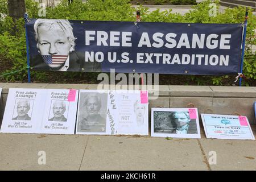
<instances>
[{"instance_id":1,"label":"man's head and shoulders pictured on the leftmost Jail the War Criminals! poster","mask_svg":"<svg viewBox=\"0 0 256 182\"><path fill-rule=\"evenodd\" d=\"M30 100L20 99L17 100L16 106L14 108L14 113L17 113L16 117L13 120L27 120L30 121L31 117L28 115L28 111L30 110Z\"/></svg>"}]
</instances>

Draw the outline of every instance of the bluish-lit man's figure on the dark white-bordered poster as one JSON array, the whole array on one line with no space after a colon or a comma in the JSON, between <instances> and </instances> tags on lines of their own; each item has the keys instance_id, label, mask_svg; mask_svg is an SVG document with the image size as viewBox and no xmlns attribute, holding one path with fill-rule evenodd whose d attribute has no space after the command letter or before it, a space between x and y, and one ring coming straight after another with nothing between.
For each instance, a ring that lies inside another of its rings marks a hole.
<instances>
[{"instance_id":1,"label":"bluish-lit man's figure on the dark white-bordered poster","mask_svg":"<svg viewBox=\"0 0 256 182\"><path fill-rule=\"evenodd\" d=\"M170 128L173 134L197 134L196 119L190 119L187 111L170 112Z\"/></svg>"}]
</instances>

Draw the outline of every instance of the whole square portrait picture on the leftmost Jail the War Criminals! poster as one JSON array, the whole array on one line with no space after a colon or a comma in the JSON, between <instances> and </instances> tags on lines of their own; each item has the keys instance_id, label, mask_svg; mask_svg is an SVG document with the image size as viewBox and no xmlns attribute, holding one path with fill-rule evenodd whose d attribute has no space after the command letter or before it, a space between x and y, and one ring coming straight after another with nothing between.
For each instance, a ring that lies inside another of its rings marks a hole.
<instances>
[{"instance_id":1,"label":"whole square portrait picture on the leftmost Jail the War Criminals! poster","mask_svg":"<svg viewBox=\"0 0 256 182\"><path fill-rule=\"evenodd\" d=\"M18 99L15 100L12 120L30 121L32 108L34 105L33 99Z\"/></svg>"}]
</instances>

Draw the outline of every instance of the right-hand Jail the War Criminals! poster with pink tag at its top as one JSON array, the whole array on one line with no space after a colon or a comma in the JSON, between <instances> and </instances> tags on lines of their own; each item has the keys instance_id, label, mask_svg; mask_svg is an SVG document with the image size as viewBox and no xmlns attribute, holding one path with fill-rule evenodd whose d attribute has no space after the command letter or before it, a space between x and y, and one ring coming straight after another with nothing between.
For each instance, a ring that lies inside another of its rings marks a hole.
<instances>
[{"instance_id":1,"label":"right-hand Jail the War Criminals! poster with pink tag at its top","mask_svg":"<svg viewBox=\"0 0 256 182\"><path fill-rule=\"evenodd\" d=\"M40 133L74 134L78 90L70 99L68 89L48 89ZM68 101L70 100L70 101Z\"/></svg>"}]
</instances>

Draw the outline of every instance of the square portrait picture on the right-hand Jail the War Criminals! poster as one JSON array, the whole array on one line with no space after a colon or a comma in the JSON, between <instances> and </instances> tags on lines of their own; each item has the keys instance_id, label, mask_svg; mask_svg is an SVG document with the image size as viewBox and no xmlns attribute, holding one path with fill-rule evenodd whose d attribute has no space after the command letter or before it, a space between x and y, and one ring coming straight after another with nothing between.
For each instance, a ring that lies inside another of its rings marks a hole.
<instances>
[{"instance_id":1,"label":"square portrait picture on the right-hand Jail the War Criminals! poster","mask_svg":"<svg viewBox=\"0 0 256 182\"><path fill-rule=\"evenodd\" d=\"M69 102L64 100L52 100L49 109L48 121L67 122Z\"/></svg>"}]
</instances>

